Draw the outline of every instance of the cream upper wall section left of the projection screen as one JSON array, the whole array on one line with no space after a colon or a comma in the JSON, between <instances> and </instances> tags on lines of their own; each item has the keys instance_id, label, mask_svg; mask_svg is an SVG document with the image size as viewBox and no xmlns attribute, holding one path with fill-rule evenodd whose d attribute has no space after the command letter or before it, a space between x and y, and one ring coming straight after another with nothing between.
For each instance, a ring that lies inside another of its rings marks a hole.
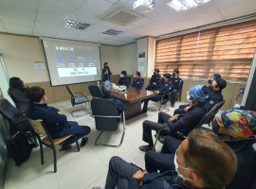
<instances>
[{"instance_id":1,"label":"cream upper wall section left of the projection screen","mask_svg":"<svg viewBox=\"0 0 256 189\"><path fill-rule=\"evenodd\" d=\"M0 51L9 77L21 77L26 83L49 81L47 70L34 69L34 61L46 62L38 38L0 34Z\"/></svg>"}]
</instances>

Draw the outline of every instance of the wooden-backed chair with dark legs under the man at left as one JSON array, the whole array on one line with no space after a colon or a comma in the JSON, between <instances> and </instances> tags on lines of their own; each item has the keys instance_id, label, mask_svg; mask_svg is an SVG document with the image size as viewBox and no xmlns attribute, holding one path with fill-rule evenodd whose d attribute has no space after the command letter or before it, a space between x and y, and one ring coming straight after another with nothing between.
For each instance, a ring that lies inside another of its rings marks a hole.
<instances>
[{"instance_id":1,"label":"wooden-backed chair with dark legs under the man at left","mask_svg":"<svg viewBox=\"0 0 256 189\"><path fill-rule=\"evenodd\" d=\"M78 139L77 139L76 135L71 134L71 135L68 135L68 136L64 136L62 138L52 139L48 130L46 129L46 126L45 126L43 120L41 120L41 119L37 119L37 120L28 119L28 121L29 121L31 127L34 129L34 132L35 132L35 134L37 136L37 139L39 141L40 153L41 153L41 163L42 164L44 164L43 145L52 149L53 163L54 163L53 164L54 165L54 173L57 172L57 158L56 158L55 146L60 145L61 143L64 143L64 141L67 140L70 137L75 137L78 151L80 151L80 146L78 144ZM44 137L43 139L41 139L42 136Z\"/></svg>"}]
</instances>

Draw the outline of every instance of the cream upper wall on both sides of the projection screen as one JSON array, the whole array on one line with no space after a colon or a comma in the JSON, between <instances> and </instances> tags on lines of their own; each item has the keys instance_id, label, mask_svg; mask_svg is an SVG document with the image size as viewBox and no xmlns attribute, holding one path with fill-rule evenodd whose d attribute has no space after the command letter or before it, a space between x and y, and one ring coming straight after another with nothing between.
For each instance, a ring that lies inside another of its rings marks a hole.
<instances>
[{"instance_id":1,"label":"cream upper wall on both sides of the projection screen","mask_svg":"<svg viewBox=\"0 0 256 189\"><path fill-rule=\"evenodd\" d=\"M0 51L9 77L21 77L25 83L49 81L46 70L36 70L34 61L46 62L43 44L37 37L0 34ZM122 70L137 71L137 43L123 46L101 45L101 63L109 62L114 75Z\"/></svg>"}]
</instances>

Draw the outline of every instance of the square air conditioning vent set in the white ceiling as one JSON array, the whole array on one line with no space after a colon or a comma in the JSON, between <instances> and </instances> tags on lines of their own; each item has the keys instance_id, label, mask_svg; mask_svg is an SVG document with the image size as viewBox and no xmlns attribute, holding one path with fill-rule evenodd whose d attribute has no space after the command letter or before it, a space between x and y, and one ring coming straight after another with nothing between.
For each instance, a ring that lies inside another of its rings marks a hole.
<instances>
[{"instance_id":1,"label":"square air conditioning vent set in the white ceiling","mask_svg":"<svg viewBox=\"0 0 256 189\"><path fill-rule=\"evenodd\" d=\"M126 5L122 2L118 2L115 5L113 5L110 9L105 11L99 17L99 20L120 26L127 26L144 17L145 15L133 11L132 6Z\"/></svg>"}]
</instances>

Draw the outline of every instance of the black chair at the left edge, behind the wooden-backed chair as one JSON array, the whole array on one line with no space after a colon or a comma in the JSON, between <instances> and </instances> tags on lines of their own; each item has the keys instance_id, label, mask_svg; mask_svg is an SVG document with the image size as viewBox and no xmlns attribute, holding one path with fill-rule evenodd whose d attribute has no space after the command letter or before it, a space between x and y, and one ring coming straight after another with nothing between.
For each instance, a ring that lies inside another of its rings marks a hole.
<instances>
[{"instance_id":1,"label":"black chair at the left edge, behind the wooden-backed chair","mask_svg":"<svg viewBox=\"0 0 256 189\"><path fill-rule=\"evenodd\" d=\"M34 146L37 146L36 136L34 135L33 129L27 118L23 116L22 112L13 107L6 98L0 100L0 113L3 116L6 125L9 126L10 135L15 134L17 131L26 132L30 142L33 143ZM31 140L31 138L33 140Z\"/></svg>"}]
</instances>

